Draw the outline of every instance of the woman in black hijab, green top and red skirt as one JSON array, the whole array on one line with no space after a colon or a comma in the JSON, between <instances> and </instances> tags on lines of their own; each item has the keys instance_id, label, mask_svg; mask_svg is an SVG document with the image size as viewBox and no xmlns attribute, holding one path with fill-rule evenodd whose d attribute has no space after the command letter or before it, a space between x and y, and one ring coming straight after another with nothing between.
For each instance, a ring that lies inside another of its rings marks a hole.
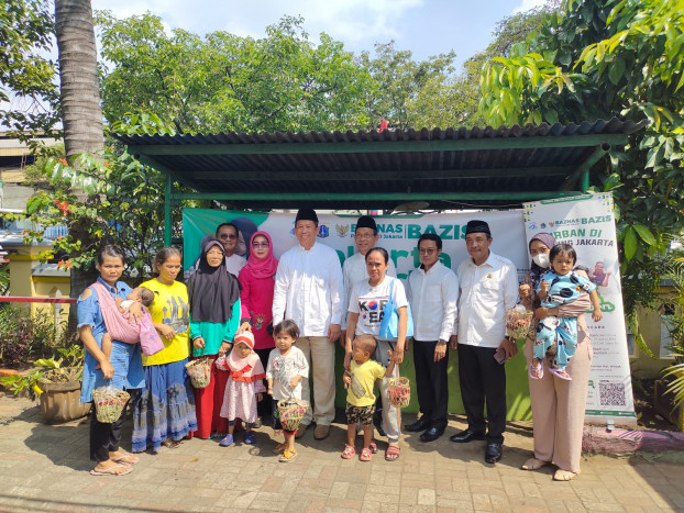
<instances>
[{"instance_id":1,"label":"woman in black hijab, green top and red skirt","mask_svg":"<svg viewBox=\"0 0 684 513\"><path fill-rule=\"evenodd\" d=\"M214 360L228 353L240 326L240 283L225 270L223 244L216 237L202 238L197 271L188 281L190 299L190 339L192 357ZM195 389L199 438L222 438L228 420L220 415L229 373L211 366L211 379L203 389Z\"/></svg>"}]
</instances>

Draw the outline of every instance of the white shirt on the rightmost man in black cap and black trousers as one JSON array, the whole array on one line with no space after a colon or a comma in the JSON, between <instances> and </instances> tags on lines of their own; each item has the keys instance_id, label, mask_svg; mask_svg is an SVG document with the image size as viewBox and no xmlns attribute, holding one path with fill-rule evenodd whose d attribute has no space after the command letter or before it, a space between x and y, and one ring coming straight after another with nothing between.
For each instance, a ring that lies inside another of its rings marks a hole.
<instances>
[{"instance_id":1,"label":"white shirt on the rightmost man in black cap and black trousers","mask_svg":"<svg viewBox=\"0 0 684 513\"><path fill-rule=\"evenodd\" d=\"M454 333L459 344L498 347L506 335L506 310L518 302L518 272L508 258L489 253L476 266L467 258L459 266L461 297Z\"/></svg>"}]
</instances>

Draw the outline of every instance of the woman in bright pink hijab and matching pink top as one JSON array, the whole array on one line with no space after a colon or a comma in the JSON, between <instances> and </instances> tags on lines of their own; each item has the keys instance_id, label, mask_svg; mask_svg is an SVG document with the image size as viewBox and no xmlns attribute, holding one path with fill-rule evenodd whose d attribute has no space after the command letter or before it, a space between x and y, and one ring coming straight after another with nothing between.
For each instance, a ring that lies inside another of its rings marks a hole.
<instances>
[{"instance_id":1,"label":"woman in bright pink hijab and matching pink top","mask_svg":"<svg viewBox=\"0 0 684 513\"><path fill-rule=\"evenodd\" d=\"M273 289L278 260L273 256L273 242L266 232L255 232L250 239L247 265L240 271L243 311L247 311L254 350L264 368L268 364L268 354L275 347L273 339ZM260 417L272 411L271 395L257 404ZM257 421L258 422L258 421Z\"/></svg>"}]
</instances>

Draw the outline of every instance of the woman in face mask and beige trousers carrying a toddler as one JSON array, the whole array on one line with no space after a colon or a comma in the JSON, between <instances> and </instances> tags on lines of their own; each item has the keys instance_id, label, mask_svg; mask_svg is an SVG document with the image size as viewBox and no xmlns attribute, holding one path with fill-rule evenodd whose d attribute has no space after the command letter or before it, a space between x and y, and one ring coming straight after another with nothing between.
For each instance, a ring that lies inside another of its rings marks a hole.
<instances>
[{"instance_id":1,"label":"woman in face mask and beige trousers carrying a toddler","mask_svg":"<svg viewBox=\"0 0 684 513\"><path fill-rule=\"evenodd\" d=\"M529 243L532 264L523 285L520 298L528 310L534 312L540 321L549 315L577 317L577 352L567 366L572 381L544 372L541 379L529 379L530 399L534 433L534 457L523 465L523 470L537 470L545 465L558 466L553 479L570 481L580 473L582 456L582 434L584 430L584 410L592 366L592 341L584 320L591 302L586 292L569 304L556 308L540 306L536 290L543 275L549 270L549 252L555 246L555 239L548 233L534 235ZM586 274L576 270L586 278ZM530 330L525 345L525 356L530 365L533 357L534 330Z\"/></svg>"}]
</instances>

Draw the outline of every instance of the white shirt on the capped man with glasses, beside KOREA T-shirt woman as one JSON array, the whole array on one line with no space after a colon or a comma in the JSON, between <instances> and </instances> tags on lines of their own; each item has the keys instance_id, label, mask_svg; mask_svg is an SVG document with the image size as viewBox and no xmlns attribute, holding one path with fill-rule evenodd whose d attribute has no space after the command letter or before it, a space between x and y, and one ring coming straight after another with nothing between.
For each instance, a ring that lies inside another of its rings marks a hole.
<instances>
[{"instance_id":1,"label":"white shirt on the capped man with glasses, beside KOREA T-shirt woman","mask_svg":"<svg viewBox=\"0 0 684 513\"><path fill-rule=\"evenodd\" d=\"M456 321L459 279L437 261L429 271L422 267L408 277L408 299L413 314L416 341L449 341Z\"/></svg>"}]
</instances>

